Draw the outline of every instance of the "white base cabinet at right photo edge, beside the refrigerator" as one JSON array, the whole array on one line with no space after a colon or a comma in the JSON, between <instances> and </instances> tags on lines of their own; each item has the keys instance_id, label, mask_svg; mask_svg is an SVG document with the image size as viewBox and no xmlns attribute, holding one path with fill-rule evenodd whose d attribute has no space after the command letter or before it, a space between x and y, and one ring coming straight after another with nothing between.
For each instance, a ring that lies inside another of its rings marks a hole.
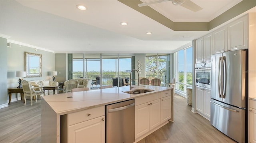
<instances>
[{"instance_id":1,"label":"white base cabinet at right photo edge, beside the refrigerator","mask_svg":"<svg viewBox=\"0 0 256 143\"><path fill-rule=\"evenodd\" d=\"M249 141L256 143L256 101L249 100Z\"/></svg>"}]
</instances>

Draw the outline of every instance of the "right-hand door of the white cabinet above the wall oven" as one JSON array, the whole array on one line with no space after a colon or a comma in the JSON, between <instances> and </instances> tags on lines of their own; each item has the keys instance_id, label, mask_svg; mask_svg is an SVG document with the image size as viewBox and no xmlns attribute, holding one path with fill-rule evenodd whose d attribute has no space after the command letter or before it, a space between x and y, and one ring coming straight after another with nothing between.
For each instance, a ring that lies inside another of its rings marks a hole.
<instances>
[{"instance_id":1,"label":"right-hand door of the white cabinet above the wall oven","mask_svg":"<svg viewBox=\"0 0 256 143\"><path fill-rule=\"evenodd\" d=\"M212 54L212 33L204 36L204 61L210 62L211 61L211 54Z\"/></svg>"}]
</instances>

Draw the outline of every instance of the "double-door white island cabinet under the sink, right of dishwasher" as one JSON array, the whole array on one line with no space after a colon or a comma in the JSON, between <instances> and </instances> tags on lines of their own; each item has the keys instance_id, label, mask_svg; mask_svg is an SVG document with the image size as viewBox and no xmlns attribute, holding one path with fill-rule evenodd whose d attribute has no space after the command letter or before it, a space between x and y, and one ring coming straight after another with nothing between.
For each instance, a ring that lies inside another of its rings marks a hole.
<instances>
[{"instance_id":1,"label":"double-door white island cabinet under the sink, right of dishwasher","mask_svg":"<svg viewBox=\"0 0 256 143\"><path fill-rule=\"evenodd\" d=\"M160 99L135 106L135 138L160 125Z\"/></svg>"}]
</instances>

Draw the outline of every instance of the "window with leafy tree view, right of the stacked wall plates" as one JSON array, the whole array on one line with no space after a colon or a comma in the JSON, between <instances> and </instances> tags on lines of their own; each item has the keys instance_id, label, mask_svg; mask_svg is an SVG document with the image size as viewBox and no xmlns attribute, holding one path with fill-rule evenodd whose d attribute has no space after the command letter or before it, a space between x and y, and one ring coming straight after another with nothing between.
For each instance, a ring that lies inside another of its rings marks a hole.
<instances>
[{"instance_id":1,"label":"window with leafy tree view, right of the stacked wall plates","mask_svg":"<svg viewBox=\"0 0 256 143\"><path fill-rule=\"evenodd\" d=\"M146 77L159 78L169 83L169 54L146 54Z\"/></svg>"}]
</instances>

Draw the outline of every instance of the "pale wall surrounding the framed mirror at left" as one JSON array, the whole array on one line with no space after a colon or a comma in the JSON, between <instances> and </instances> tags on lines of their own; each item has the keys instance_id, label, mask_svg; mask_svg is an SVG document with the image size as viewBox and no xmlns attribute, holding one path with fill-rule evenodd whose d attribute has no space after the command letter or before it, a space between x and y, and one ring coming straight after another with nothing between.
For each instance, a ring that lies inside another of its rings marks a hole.
<instances>
[{"instance_id":1,"label":"pale wall surrounding the framed mirror at left","mask_svg":"<svg viewBox=\"0 0 256 143\"><path fill-rule=\"evenodd\" d=\"M27 46L22 46L12 43L11 48L8 47L4 53L7 55L7 87L17 87L19 77L15 77L16 71L24 71L24 52L30 52L35 54L42 54L42 77L29 77L24 78L25 80L52 80L50 71L55 71L55 54L52 52L46 52L43 50L35 50ZM2 54L2 52L1 52ZM7 91L7 88L6 88ZM4 96L8 96L7 94ZM9 98L8 98L9 99ZM12 100L20 100L19 93L12 93ZM6 100L6 99L5 99ZM7 100L5 101L7 102Z\"/></svg>"}]
</instances>

